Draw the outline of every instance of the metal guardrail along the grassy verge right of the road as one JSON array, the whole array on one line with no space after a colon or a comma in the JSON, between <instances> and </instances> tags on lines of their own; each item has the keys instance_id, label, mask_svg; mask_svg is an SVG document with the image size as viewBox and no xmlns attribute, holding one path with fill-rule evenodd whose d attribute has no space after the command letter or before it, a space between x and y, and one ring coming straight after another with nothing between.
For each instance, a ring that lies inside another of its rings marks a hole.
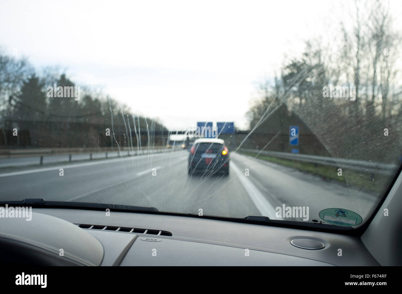
<instances>
[{"instance_id":1,"label":"metal guardrail along the grassy verge right of the road","mask_svg":"<svg viewBox=\"0 0 402 294\"><path fill-rule=\"evenodd\" d=\"M297 160L297 161L302 161L302 162L311 162L311 163L321 164L321 165L325 165L325 166L348 168L348 169L357 170L360 172L391 174L394 170L396 170L399 167L397 164L384 164L384 163L379 163L379 162L345 159L345 158L333 158L333 157L326 157L326 156L297 154L297 153L288 153L288 152L255 150L255 149L246 149L246 148L239 149L239 151L251 152L254 154L262 154L262 155L290 159L290 160Z\"/></svg>"}]
</instances>

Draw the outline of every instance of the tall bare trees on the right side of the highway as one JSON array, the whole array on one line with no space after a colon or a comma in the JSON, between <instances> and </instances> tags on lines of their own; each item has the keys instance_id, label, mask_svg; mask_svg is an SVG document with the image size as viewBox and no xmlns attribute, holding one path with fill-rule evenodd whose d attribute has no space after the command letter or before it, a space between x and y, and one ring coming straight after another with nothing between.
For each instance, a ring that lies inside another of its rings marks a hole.
<instances>
[{"instance_id":1,"label":"tall bare trees on the right side of the highway","mask_svg":"<svg viewBox=\"0 0 402 294\"><path fill-rule=\"evenodd\" d=\"M355 1L347 13L352 21L339 22L328 44L307 40L301 55L259 83L246 114L250 130L287 133L297 116L334 157L396 162L402 155L397 16L377 0ZM356 97L324 97L328 86L354 88Z\"/></svg>"}]
</instances>

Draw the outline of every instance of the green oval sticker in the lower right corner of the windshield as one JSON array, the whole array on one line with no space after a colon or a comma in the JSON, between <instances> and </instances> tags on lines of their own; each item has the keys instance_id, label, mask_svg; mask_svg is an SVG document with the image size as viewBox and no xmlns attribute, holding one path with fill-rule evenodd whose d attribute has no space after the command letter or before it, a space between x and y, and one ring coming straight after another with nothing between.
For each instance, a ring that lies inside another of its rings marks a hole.
<instances>
[{"instance_id":1,"label":"green oval sticker in the lower right corner of the windshield","mask_svg":"<svg viewBox=\"0 0 402 294\"><path fill-rule=\"evenodd\" d=\"M318 216L327 223L343 227L359 225L363 221L357 213L343 208L323 209Z\"/></svg>"}]
</instances>

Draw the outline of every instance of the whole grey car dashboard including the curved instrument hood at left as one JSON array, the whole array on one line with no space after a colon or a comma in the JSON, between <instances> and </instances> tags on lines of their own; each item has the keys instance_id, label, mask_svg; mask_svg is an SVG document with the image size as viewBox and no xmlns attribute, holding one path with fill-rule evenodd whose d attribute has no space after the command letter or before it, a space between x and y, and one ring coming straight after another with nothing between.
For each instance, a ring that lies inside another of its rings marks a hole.
<instances>
[{"instance_id":1,"label":"whole grey car dashboard including the curved instrument hood at left","mask_svg":"<svg viewBox=\"0 0 402 294\"><path fill-rule=\"evenodd\" d=\"M3 219L0 228L1 247L9 253L5 255L23 254L21 259L31 260L32 264L379 265L361 239L353 235L179 215L64 208L33 208L32 211L31 221ZM296 247L294 242L292 245L292 240L298 239L307 245L316 242L322 246L312 250Z\"/></svg>"}]
</instances>

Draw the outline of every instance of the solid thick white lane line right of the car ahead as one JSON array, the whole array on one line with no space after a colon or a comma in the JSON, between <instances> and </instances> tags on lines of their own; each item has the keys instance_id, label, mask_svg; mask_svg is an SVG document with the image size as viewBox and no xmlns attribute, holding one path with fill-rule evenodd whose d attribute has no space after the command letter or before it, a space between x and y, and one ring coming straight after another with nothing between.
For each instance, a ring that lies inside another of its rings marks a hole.
<instances>
[{"instance_id":1,"label":"solid thick white lane line right of the car ahead","mask_svg":"<svg viewBox=\"0 0 402 294\"><path fill-rule=\"evenodd\" d=\"M240 169L230 162L230 168L234 171L240 182L242 183L244 189L247 191L248 196L254 203L255 207L258 209L261 215L269 217L270 219L275 219L275 208L269 203L267 198L254 186L254 184L240 171Z\"/></svg>"}]
</instances>

